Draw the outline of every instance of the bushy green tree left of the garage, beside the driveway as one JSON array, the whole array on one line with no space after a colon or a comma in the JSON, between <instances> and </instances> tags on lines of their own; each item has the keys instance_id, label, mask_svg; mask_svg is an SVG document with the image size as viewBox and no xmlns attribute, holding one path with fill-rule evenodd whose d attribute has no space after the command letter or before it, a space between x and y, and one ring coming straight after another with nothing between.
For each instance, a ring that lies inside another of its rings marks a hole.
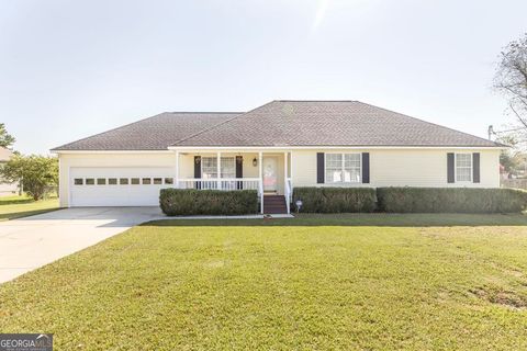
<instances>
[{"instance_id":1,"label":"bushy green tree left of the garage, beside the driveway","mask_svg":"<svg viewBox=\"0 0 527 351\"><path fill-rule=\"evenodd\" d=\"M14 155L0 169L0 176L8 182L21 182L24 191L37 201L51 186L58 184L58 160L38 155Z\"/></svg>"}]
</instances>

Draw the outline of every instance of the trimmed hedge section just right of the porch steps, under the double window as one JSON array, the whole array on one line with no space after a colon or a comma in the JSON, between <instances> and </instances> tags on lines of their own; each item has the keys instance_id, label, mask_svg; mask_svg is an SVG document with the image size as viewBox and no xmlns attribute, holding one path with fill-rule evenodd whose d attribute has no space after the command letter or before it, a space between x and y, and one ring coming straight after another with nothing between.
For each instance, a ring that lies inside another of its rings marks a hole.
<instances>
[{"instance_id":1,"label":"trimmed hedge section just right of the porch steps, under the double window","mask_svg":"<svg viewBox=\"0 0 527 351\"><path fill-rule=\"evenodd\" d=\"M294 188L293 204L302 200L301 212L347 213L375 210L373 188Z\"/></svg>"}]
</instances>

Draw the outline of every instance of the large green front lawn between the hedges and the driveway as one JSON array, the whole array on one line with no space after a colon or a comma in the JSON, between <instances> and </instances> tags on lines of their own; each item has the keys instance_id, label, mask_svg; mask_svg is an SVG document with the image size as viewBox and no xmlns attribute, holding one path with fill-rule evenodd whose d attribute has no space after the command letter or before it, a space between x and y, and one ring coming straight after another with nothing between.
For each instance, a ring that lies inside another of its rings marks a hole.
<instances>
[{"instance_id":1,"label":"large green front lawn between the hedges and the driveway","mask_svg":"<svg viewBox=\"0 0 527 351\"><path fill-rule=\"evenodd\" d=\"M0 285L0 330L56 350L526 349L525 224L150 223Z\"/></svg>"}]
</instances>

